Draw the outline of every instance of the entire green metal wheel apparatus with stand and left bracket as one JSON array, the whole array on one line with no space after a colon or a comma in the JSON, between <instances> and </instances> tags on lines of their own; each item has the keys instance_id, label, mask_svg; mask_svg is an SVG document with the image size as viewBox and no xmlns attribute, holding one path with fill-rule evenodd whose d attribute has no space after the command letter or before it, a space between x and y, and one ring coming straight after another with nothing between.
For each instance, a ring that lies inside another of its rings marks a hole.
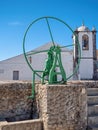
<instances>
[{"instance_id":1,"label":"entire green metal wheel apparatus with stand and left bracket","mask_svg":"<svg viewBox=\"0 0 98 130\"><path fill-rule=\"evenodd\" d=\"M31 28L31 26L36 23L39 22L40 20L45 19L46 25L48 26L48 31L50 34L50 38L51 38L51 42L52 42L52 46L50 47L49 50L42 50L42 51L36 51L36 52L26 52L25 50L25 40L26 40L26 36L27 33L29 31L29 29ZM53 39L53 35L52 35L52 31L51 31L51 27L49 24L49 19L53 19L53 20L57 20L59 22L61 22L62 24L64 24L75 36L76 39L76 43L75 44L70 44L70 45L66 45L66 46L57 46L54 43L54 39ZM66 47L70 47L70 46L74 46L76 45L78 47L78 60L77 60L77 65L76 68L74 69L73 73L70 74L69 77L66 77L66 73L65 70L63 68L62 65L62 61L61 61L61 48L66 48ZM47 52L48 58L45 61L46 65L45 65L45 69L44 70L34 70L32 65L29 63L28 61L28 56L30 55L36 55L38 53L43 53L43 52ZM81 50L80 50L80 44L78 41L78 37L77 35L74 33L74 31L71 29L71 27L65 23L63 20L55 18L55 17L50 17L50 16L46 16L46 17L41 17L38 18L36 20L34 20L27 28L25 34L24 34L24 38L23 38L23 53L24 53L24 57L25 60L28 64L28 66L30 67L32 73L33 73L33 79L32 79L32 95L30 96L31 98L34 98L34 87L35 87L35 75L37 75L38 77L41 78L42 83L44 83L46 80L48 81L49 84L52 83L66 83L68 79L70 79L78 70L79 68L79 64L80 64L80 57L81 57ZM56 72L56 68L59 68L60 72ZM38 72L42 72L42 74L40 75ZM61 75L62 76L62 81L57 81L57 75ZM45 78L45 77L48 77Z\"/></svg>"}]
</instances>

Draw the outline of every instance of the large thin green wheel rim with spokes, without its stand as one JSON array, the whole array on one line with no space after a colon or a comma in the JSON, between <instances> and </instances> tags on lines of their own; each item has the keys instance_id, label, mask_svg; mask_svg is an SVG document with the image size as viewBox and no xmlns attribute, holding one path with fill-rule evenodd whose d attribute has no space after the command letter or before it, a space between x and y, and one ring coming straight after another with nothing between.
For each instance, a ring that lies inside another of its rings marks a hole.
<instances>
[{"instance_id":1,"label":"large thin green wheel rim with spokes, without its stand","mask_svg":"<svg viewBox=\"0 0 98 130\"><path fill-rule=\"evenodd\" d=\"M72 28L67 23L65 23L63 20L55 18L55 17L45 16L45 17L40 17L40 18L32 21L30 23L30 25L28 26L28 28L27 28L27 30L26 30L26 32L24 34L24 38L23 38L23 53L24 53L24 57L25 57L25 60L26 60L26 62L28 64L28 66L30 67L31 71L35 75L37 75L38 77L42 78L42 76L41 76L41 74L39 74L39 72L41 73L44 70L35 70L34 67L33 67L33 65L30 63L30 59L28 59L28 57L30 58L30 56L32 56L32 55L36 55L38 53L43 53L43 52L48 52L49 49L46 49L46 50L37 50L35 52L33 52L33 51L29 51L28 52L28 51L26 51L26 47L29 46L29 45L27 45L26 41L27 41L27 35L28 35L29 30L31 29L31 27L34 26L35 24L37 24L38 22L43 21L44 23L46 22L45 24L46 24L46 26L48 28L48 33L50 35L52 46L56 46L56 41L54 40L53 33L52 33L52 27L50 26L51 20L52 21L57 21L60 24L63 24L64 25L64 29L67 28L68 30L70 30L71 33L72 33L72 35L75 36L75 39L76 39L76 43L74 43L74 44L72 43L72 44L67 44L67 45L64 45L64 46L61 45L60 46L61 49L62 48L67 48L67 47L70 47L70 46L72 46L73 48L74 47L78 48L78 60L77 60L77 63L76 63L76 66L75 66L73 72L66 77L66 80L68 80L68 79L70 79L77 72L77 70L79 68L80 59L81 59L81 50L80 50L80 44L79 44L77 35L74 33L74 31L72 30ZM39 28L39 31L40 31L40 28ZM32 37L33 37L33 35L32 35Z\"/></svg>"}]
</instances>

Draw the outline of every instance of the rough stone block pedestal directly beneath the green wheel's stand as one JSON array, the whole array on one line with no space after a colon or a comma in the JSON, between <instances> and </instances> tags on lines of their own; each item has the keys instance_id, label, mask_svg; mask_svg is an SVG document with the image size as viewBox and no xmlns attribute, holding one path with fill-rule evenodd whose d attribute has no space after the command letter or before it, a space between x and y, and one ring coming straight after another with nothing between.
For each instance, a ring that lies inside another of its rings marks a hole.
<instances>
[{"instance_id":1,"label":"rough stone block pedestal directly beneath the green wheel's stand","mask_svg":"<svg viewBox=\"0 0 98 130\"><path fill-rule=\"evenodd\" d=\"M36 100L44 130L85 130L87 93L83 84L36 86Z\"/></svg>"}]
</instances>

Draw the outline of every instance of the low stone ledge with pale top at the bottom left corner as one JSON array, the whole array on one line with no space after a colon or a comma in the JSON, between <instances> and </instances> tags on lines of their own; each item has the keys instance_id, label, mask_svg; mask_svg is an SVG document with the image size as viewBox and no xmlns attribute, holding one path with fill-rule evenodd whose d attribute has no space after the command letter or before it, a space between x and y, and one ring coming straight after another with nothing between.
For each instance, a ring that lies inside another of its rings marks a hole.
<instances>
[{"instance_id":1,"label":"low stone ledge with pale top at the bottom left corner","mask_svg":"<svg viewBox=\"0 0 98 130\"><path fill-rule=\"evenodd\" d=\"M27 120L0 124L0 130L42 130L42 120Z\"/></svg>"}]
</instances>

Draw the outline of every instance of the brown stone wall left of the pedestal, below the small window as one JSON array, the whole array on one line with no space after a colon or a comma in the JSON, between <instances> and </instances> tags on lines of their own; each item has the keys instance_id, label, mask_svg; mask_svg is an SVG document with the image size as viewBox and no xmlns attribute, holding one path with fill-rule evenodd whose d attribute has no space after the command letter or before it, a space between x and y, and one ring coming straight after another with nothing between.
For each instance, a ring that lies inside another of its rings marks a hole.
<instances>
[{"instance_id":1,"label":"brown stone wall left of the pedestal, below the small window","mask_svg":"<svg viewBox=\"0 0 98 130\"><path fill-rule=\"evenodd\" d=\"M0 120L31 119L31 83L22 81L0 82Z\"/></svg>"}]
</instances>

